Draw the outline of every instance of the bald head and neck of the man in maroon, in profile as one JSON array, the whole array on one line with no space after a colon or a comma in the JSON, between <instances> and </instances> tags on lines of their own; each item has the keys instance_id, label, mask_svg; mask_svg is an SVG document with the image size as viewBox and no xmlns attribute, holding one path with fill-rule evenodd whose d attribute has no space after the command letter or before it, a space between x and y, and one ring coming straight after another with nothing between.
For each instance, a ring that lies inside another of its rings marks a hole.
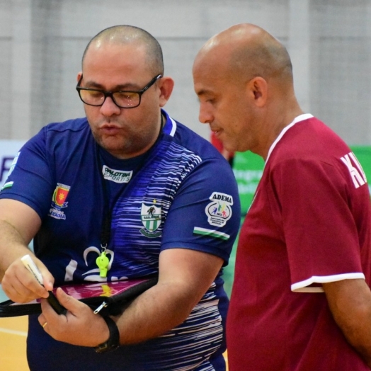
<instances>
[{"instance_id":1,"label":"bald head and neck of the man in maroon, in profile","mask_svg":"<svg viewBox=\"0 0 371 371\"><path fill-rule=\"evenodd\" d=\"M200 122L229 151L266 159L270 145L302 113L286 48L266 30L239 24L205 43L193 64Z\"/></svg>"}]
</instances>

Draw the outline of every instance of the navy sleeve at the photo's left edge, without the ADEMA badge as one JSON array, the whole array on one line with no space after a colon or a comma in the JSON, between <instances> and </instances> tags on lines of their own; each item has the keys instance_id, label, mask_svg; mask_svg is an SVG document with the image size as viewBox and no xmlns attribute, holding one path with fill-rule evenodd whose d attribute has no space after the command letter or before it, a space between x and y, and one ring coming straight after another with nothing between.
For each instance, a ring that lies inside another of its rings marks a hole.
<instances>
[{"instance_id":1,"label":"navy sleeve at the photo's left edge, without the ADEMA badge","mask_svg":"<svg viewBox=\"0 0 371 371\"><path fill-rule=\"evenodd\" d=\"M18 200L30 206L42 219L50 208L52 174L45 151L45 133L26 142L13 160L0 198Z\"/></svg>"}]
</instances>

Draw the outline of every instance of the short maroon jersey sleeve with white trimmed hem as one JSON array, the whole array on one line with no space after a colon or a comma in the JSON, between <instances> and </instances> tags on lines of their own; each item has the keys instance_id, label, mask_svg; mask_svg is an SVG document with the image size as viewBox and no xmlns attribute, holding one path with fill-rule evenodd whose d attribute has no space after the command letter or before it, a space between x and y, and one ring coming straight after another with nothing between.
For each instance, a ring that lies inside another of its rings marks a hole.
<instances>
[{"instance_id":1,"label":"short maroon jersey sleeve with white trimmed hem","mask_svg":"<svg viewBox=\"0 0 371 371\"><path fill-rule=\"evenodd\" d=\"M293 291L322 291L321 283L364 278L349 182L335 166L292 159L275 166Z\"/></svg>"}]
</instances>

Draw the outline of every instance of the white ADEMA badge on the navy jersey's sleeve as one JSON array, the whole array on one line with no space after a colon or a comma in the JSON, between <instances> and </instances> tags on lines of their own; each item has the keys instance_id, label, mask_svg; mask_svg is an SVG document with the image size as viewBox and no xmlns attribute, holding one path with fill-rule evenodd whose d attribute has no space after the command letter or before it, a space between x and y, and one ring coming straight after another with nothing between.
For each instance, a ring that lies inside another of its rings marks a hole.
<instances>
[{"instance_id":1,"label":"white ADEMA badge on the navy jersey's sleeve","mask_svg":"<svg viewBox=\"0 0 371 371\"><path fill-rule=\"evenodd\" d=\"M213 192L205 207L207 222L215 227L223 227L232 217L233 197L225 193Z\"/></svg>"}]
</instances>

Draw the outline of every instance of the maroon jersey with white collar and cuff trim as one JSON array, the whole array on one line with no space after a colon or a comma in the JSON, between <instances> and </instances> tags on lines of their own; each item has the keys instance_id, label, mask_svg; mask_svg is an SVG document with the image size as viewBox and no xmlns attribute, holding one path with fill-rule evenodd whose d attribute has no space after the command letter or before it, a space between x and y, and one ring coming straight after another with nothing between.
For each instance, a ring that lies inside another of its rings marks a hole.
<instances>
[{"instance_id":1,"label":"maroon jersey with white collar and cuff trim","mask_svg":"<svg viewBox=\"0 0 371 371\"><path fill-rule=\"evenodd\" d=\"M370 231L370 193L354 154L324 123L299 116L270 148L241 229L229 370L369 370L333 320L321 283L370 284Z\"/></svg>"}]
</instances>

